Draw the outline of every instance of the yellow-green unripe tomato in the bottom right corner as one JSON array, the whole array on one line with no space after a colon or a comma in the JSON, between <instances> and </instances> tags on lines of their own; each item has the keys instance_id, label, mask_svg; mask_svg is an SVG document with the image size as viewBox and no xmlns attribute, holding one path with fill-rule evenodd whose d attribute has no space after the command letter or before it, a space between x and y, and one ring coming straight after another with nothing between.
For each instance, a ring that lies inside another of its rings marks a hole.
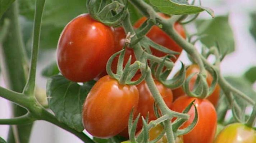
<instances>
[{"instance_id":1,"label":"yellow-green unripe tomato in the bottom right corner","mask_svg":"<svg viewBox=\"0 0 256 143\"><path fill-rule=\"evenodd\" d=\"M214 143L256 143L256 130L242 123L233 123L217 135Z\"/></svg>"}]
</instances>

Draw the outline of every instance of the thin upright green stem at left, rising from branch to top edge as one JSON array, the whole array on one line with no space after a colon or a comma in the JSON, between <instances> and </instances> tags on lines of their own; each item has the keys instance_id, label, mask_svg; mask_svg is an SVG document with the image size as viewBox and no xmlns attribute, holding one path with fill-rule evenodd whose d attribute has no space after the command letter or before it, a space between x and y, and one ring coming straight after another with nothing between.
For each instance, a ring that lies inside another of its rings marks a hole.
<instances>
[{"instance_id":1,"label":"thin upright green stem at left, rising from branch to top edge","mask_svg":"<svg viewBox=\"0 0 256 143\"><path fill-rule=\"evenodd\" d=\"M24 94L30 95L30 96L34 95L34 91L35 91L37 55L38 55L38 48L40 43L40 31L41 31L41 22L42 22L44 5L45 5L45 0L36 0L31 63L30 63L27 84L24 88Z\"/></svg>"}]
</instances>

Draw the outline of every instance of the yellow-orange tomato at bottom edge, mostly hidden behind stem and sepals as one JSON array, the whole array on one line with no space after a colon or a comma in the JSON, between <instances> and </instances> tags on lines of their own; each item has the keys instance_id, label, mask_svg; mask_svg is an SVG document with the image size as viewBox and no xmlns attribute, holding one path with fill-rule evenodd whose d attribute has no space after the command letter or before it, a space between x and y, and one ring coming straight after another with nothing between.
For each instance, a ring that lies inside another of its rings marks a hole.
<instances>
[{"instance_id":1,"label":"yellow-orange tomato at bottom edge, mostly hidden behind stem and sepals","mask_svg":"<svg viewBox=\"0 0 256 143\"><path fill-rule=\"evenodd\" d=\"M164 130L164 127L161 124L156 125L156 127L151 128L149 130L149 140L154 140L157 138L161 132ZM168 143L166 135L164 135L160 140L158 140L156 143ZM183 143L183 136L178 136L175 139L175 143Z\"/></svg>"}]
</instances>

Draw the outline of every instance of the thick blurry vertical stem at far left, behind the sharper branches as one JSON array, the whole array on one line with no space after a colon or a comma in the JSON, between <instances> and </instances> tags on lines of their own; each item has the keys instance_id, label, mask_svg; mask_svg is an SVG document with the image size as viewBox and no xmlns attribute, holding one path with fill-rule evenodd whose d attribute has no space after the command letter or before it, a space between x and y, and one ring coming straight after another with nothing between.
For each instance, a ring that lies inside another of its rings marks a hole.
<instances>
[{"instance_id":1,"label":"thick blurry vertical stem at far left, behind the sharper branches","mask_svg":"<svg viewBox=\"0 0 256 143\"><path fill-rule=\"evenodd\" d=\"M22 92L27 78L27 59L23 46L19 24L18 1L6 11L2 19L9 19L8 33L0 47L2 75L7 87L15 92ZM22 95L18 97L22 98ZM19 117L27 113L26 109L17 104L12 105L13 116ZM32 124L12 125L9 129L8 143L28 143Z\"/></svg>"}]
</instances>

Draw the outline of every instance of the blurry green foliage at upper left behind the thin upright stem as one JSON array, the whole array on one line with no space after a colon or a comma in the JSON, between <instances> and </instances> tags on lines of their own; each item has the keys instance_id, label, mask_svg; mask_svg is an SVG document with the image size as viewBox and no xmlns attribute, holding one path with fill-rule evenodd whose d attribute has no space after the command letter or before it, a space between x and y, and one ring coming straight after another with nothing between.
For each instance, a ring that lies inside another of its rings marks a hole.
<instances>
[{"instance_id":1,"label":"blurry green foliage at upper left behind the thin upright stem","mask_svg":"<svg viewBox=\"0 0 256 143\"><path fill-rule=\"evenodd\" d=\"M20 0L19 8L20 15L32 23L35 13L35 0ZM56 48L64 26L78 15L86 12L86 0L47 0L42 19L40 48ZM27 49L31 49L32 45L32 27L26 29L30 38L26 43ZM26 33L26 31L23 31L23 33Z\"/></svg>"}]
</instances>

